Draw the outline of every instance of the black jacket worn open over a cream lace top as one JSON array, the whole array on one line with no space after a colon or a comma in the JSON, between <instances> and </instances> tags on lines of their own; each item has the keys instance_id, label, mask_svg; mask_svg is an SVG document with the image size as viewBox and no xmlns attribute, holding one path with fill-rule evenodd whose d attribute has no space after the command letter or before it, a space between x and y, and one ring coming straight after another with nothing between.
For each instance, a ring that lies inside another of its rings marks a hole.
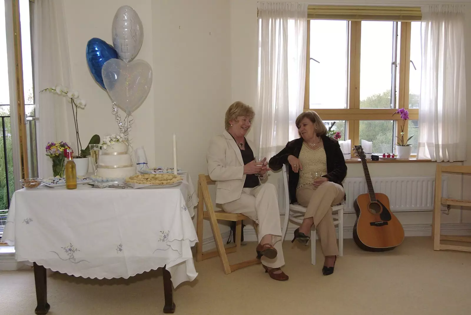
<instances>
[{"instance_id":1,"label":"black jacket worn open over a cream lace top","mask_svg":"<svg viewBox=\"0 0 471 315\"><path fill-rule=\"evenodd\" d=\"M323 177L336 184L342 185L343 179L347 176L347 164L343 158L342 150L339 142L333 138L322 136L324 142L325 158L327 162L327 174ZM273 156L268 162L268 166L272 170L280 170L283 164L289 168L288 171L288 190L290 194L290 203L296 202L296 186L298 186L299 172L293 172L288 156L294 155L299 158L303 139L294 139L286 144L283 150Z\"/></svg>"}]
</instances>

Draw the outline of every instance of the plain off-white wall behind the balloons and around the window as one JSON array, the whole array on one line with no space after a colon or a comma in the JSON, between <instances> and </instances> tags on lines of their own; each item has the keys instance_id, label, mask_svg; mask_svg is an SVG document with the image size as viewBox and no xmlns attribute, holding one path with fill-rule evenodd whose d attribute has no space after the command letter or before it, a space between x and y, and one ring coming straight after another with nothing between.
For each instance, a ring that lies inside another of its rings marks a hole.
<instances>
[{"instance_id":1,"label":"plain off-white wall behind the balloons and around the window","mask_svg":"<svg viewBox=\"0 0 471 315\"><path fill-rule=\"evenodd\" d=\"M361 4L341 0L329 3ZM409 1L395 0L363 3L411 5ZM113 16L122 5L132 6L142 20L144 43L137 58L146 60L154 72L153 88L134 114L130 133L134 146L144 145L149 164L170 166L171 135L175 132L179 167L189 171L196 187L198 174L207 173L205 154L209 140L222 132L227 107L236 100L256 104L257 0L65 0L73 87L88 103L79 116L82 144L95 133L103 136L118 132L111 101L89 73L85 46L92 37L111 43ZM469 8L468 12L471 16ZM471 31L470 20L467 19L467 33ZM466 44L466 56L471 60L470 41ZM471 87L471 62L466 73ZM471 120L471 93L467 100ZM72 121L69 125L73 126ZM471 157L471 127L468 135ZM252 138L253 133L248 137ZM374 177L433 176L435 165L373 164L370 172ZM278 177L278 173L271 174L269 181L276 183ZM348 177L363 177L361 166L349 164ZM464 183L463 189L461 178L452 181L451 194L460 197L463 192L471 198L471 179L465 178ZM403 224L431 222L430 212L398 217ZM346 225L353 225L353 218L347 218ZM444 222L460 220L471 222L471 212L461 215L456 210L444 216ZM227 231L227 227L222 231ZM208 226L204 235L211 235Z\"/></svg>"}]
</instances>

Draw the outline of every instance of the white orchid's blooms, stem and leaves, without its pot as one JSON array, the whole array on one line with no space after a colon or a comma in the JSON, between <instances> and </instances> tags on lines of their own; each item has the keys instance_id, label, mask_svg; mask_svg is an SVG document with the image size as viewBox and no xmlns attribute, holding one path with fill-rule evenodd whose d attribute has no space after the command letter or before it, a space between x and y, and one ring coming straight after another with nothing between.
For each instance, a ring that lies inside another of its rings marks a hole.
<instances>
[{"instance_id":1,"label":"white orchid's blooms, stem and leaves, without its pot","mask_svg":"<svg viewBox=\"0 0 471 315\"><path fill-rule=\"evenodd\" d=\"M77 157L86 157L89 154L89 148L88 145L84 149L82 149L82 144L80 142L80 135L79 135L79 123L77 120L78 117L78 112L77 109L85 109L85 106L87 106L87 102L83 98L79 98L79 92L78 91L73 91L72 89L69 89L68 87L57 85L52 88L47 88L43 89L40 91L41 92L52 92L52 93L57 93L60 96L67 97L67 101L72 104L72 113L73 113L73 121L75 123L75 137L77 138L77 147L80 149L80 154L77 155ZM100 137L98 135L94 135L89 144L92 143L98 143L100 140Z\"/></svg>"}]
</instances>

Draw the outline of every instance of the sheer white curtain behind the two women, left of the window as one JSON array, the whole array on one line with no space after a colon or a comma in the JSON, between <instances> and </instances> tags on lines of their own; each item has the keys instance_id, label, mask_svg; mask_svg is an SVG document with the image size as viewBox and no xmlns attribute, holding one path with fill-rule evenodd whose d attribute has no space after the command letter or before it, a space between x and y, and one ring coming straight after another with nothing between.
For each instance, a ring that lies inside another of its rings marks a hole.
<instances>
[{"instance_id":1,"label":"sheer white curtain behind the two women, left of the window","mask_svg":"<svg viewBox=\"0 0 471 315\"><path fill-rule=\"evenodd\" d=\"M259 2L259 80L255 143L269 159L298 137L306 81L308 4Z\"/></svg>"}]
</instances>

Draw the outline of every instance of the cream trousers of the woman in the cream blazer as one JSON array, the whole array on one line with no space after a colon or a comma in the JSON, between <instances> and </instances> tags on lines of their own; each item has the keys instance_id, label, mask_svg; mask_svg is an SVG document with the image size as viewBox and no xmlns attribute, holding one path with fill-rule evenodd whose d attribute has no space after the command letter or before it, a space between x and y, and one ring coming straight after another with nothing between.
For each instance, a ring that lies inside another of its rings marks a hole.
<instances>
[{"instance_id":1,"label":"cream trousers of the woman in the cream blazer","mask_svg":"<svg viewBox=\"0 0 471 315\"><path fill-rule=\"evenodd\" d=\"M254 188L243 188L239 199L222 204L222 209L229 213L241 213L256 221L259 225L259 242L267 234L273 235L273 247L278 254L268 259L262 256L262 264L270 268L284 265L281 242L280 211L276 188L273 184L262 184Z\"/></svg>"}]
</instances>

